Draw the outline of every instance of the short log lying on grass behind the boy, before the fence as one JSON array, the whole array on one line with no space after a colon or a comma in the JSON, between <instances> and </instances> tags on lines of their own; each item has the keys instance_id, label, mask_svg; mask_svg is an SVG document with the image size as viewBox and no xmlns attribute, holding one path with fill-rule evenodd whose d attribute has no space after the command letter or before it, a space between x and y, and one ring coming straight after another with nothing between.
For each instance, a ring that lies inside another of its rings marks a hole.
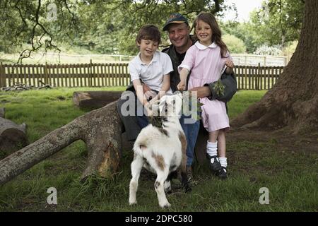
<instances>
[{"instance_id":1,"label":"short log lying on grass behind the boy, before the fence","mask_svg":"<svg viewBox=\"0 0 318 226\"><path fill-rule=\"evenodd\" d=\"M118 100L121 91L83 91L73 93L73 103L80 108L98 109Z\"/></svg>"}]
</instances>

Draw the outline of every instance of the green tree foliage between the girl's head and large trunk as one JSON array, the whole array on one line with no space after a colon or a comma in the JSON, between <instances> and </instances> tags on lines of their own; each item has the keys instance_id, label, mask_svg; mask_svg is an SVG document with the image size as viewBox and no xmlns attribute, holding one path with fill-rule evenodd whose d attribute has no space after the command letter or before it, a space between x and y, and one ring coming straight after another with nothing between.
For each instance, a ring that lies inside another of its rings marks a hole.
<instances>
[{"instance_id":1,"label":"green tree foliage between the girl's head and large trunk","mask_svg":"<svg viewBox=\"0 0 318 226\"><path fill-rule=\"evenodd\" d=\"M304 6L299 0L266 0L259 10L252 11L250 21L228 21L221 27L243 40L248 53L262 45L279 45L283 49L300 37Z\"/></svg>"}]
</instances>

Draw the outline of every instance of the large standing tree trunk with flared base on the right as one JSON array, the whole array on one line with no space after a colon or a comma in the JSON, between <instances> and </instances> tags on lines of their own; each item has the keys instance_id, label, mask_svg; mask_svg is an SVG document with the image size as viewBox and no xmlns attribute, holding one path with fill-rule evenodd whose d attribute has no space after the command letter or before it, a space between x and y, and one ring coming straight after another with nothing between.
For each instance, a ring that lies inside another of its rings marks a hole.
<instances>
[{"instance_id":1,"label":"large standing tree trunk with flared base on the right","mask_svg":"<svg viewBox=\"0 0 318 226\"><path fill-rule=\"evenodd\" d=\"M288 126L294 133L318 128L318 1L305 2L298 47L278 83L232 121L244 128Z\"/></svg>"}]
</instances>

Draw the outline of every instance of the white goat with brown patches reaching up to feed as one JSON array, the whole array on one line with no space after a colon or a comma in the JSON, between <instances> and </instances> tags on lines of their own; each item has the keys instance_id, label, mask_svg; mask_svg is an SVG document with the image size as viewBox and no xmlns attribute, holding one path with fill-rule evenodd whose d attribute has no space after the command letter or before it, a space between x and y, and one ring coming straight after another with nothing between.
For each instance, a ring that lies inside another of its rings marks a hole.
<instances>
[{"instance_id":1,"label":"white goat with brown patches reaching up to feed","mask_svg":"<svg viewBox=\"0 0 318 226\"><path fill-rule=\"evenodd\" d=\"M131 162L131 181L129 184L129 204L136 204L136 192L142 167L157 174L155 191L159 206L169 208L165 191L171 190L170 179L177 169L181 169L182 186L191 190L187 182L186 149L187 139L179 123L182 112L182 94L165 95L160 100L161 126L148 124L141 130L134 143L134 160ZM152 106L155 106L153 104ZM164 117L162 115L165 114Z\"/></svg>"}]
</instances>

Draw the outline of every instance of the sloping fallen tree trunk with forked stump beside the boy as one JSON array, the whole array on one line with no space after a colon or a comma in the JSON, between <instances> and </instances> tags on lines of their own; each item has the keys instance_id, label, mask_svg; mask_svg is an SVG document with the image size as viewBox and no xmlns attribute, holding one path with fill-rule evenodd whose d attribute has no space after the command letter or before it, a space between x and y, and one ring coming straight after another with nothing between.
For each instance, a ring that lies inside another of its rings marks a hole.
<instances>
[{"instance_id":1,"label":"sloping fallen tree trunk with forked stump beside the boy","mask_svg":"<svg viewBox=\"0 0 318 226\"><path fill-rule=\"evenodd\" d=\"M82 178L95 173L112 177L122 156L122 122L116 102L74 119L1 160L0 184L80 139L86 143L88 150Z\"/></svg>"}]
</instances>

